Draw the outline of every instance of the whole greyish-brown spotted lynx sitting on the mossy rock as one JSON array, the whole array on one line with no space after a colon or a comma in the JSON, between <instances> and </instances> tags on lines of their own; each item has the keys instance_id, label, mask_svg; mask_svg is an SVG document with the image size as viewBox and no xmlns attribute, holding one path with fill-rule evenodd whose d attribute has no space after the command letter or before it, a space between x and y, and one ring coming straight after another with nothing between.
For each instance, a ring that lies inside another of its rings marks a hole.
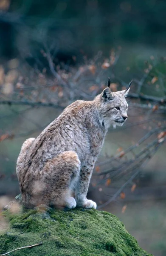
<instances>
[{"instance_id":1,"label":"whole greyish-brown spotted lynx sitting on the mossy rock","mask_svg":"<svg viewBox=\"0 0 166 256\"><path fill-rule=\"evenodd\" d=\"M25 207L96 209L87 199L90 178L109 126L127 119L129 87L111 92L109 79L94 100L73 102L36 139L23 143L16 172Z\"/></svg>"}]
</instances>

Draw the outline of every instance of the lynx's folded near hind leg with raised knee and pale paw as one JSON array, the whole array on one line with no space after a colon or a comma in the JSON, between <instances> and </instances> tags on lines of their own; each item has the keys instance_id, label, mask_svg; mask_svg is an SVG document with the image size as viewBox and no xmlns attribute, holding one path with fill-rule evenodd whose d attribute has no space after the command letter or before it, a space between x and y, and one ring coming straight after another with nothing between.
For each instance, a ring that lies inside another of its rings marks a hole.
<instances>
[{"instance_id":1,"label":"lynx's folded near hind leg with raised knee and pale paw","mask_svg":"<svg viewBox=\"0 0 166 256\"><path fill-rule=\"evenodd\" d=\"M54 206L76 207L76 200L71 196L73 187L79 178L80 160L75 151L64 151L48 160L43 175L47 180L47 198Z\"/></svg>"}]
</instances>

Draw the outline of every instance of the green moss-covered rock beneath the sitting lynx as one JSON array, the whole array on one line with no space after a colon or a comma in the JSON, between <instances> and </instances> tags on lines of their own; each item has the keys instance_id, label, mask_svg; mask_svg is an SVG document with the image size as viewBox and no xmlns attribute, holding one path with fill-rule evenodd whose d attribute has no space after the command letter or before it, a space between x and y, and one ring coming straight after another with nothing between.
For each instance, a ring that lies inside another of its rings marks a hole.
<instances>
[{"instance_id":1,"label":"green moss-covered rock beneath the sitting lynx","mask_svg":"<svg viewBox=\"0 0 166 256\"><path fill-rule=\"evenodd\" d=\"M129 235L114 215L94 209L21 208L0 212L0 221L8 223L0 231L0 254L15 248L12 256L152 256Z\"/></svg>"}]
</instances>

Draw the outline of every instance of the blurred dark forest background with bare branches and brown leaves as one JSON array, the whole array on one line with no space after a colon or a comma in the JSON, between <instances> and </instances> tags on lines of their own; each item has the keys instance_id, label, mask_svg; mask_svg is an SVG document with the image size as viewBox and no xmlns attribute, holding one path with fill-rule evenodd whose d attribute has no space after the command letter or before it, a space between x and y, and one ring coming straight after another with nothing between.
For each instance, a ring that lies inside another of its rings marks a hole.
<instances>
[{"instance_id":1,"label":"blurred dark forest background with bare branches and brown leaves","mask_svg":"<svg viewBox=\"0 0 166 256\"><path fill-rule=\"evenodd\" d=\"M19 192L21 145L111 77L128 120L110 128L88 197L143 249L166 255L166 1L0 0L0 208Z\"/></svg>"}]
</instances>

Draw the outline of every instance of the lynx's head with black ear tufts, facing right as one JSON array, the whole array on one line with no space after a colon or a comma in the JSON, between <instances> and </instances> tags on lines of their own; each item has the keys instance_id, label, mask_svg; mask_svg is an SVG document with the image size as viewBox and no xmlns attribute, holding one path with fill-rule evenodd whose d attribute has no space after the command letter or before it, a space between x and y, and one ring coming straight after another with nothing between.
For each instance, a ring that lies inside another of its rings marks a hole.
<instances>
[{"instance_id":1,"label":"lynx's head with black ear tufts, facing right","mask_svg":"<svg viewBox=\"0 0 166 256\"><path fill-rule=\"evenodd\" d=\"M106 128L110 125L113 125L113 127L116 127L116 125L121 126L127 120L128 104L125 97L129 93L129 87L131 84L132 81L129 83L126 90L114 93L110 90L110 79L108 79L107 88L105 88L99 95L99 113L103 125Z\"/></svg>"}]
</instances>

